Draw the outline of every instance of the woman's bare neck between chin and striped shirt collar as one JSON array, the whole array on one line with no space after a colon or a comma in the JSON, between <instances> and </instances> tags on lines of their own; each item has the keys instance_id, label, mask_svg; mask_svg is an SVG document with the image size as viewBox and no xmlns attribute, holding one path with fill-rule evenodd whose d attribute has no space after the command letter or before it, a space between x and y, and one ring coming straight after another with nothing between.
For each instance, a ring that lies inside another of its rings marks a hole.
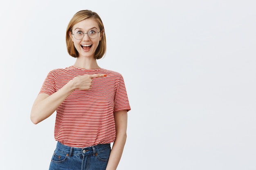
<instances>
[{"instance_id":1,"label":"woman's bare neck between chin and striped shirt collar","mask_svg":"<svg viewBox=\"0 0 256 170\"><path fill-rule=\"evenodd\" d=\"M94 58L78 57L74 66L84 69L98 69L100 68Z\"/></svg>"}]
</instances>

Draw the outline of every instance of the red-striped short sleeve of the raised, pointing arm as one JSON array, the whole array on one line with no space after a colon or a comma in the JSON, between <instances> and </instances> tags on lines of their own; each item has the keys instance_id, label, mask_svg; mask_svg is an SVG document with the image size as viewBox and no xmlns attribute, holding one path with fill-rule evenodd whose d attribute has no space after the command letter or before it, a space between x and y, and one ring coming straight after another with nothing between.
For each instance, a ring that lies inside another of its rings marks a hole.
<instances>
[{"instance_id":1,"label":"red-striped short sleeve of the raised, pointing arm","mask_svg":"<svg viewBox=\"0 0 256 170\"><path fill-rule=\"evenodd\" d=\"M50 71L45 78L45 81L43 82L43 85L40 89L39 93L46 93L48 95L52 95L56 92L56 86L55 86L55 80L56 80L56 71Z\"/></svg>"}]
</instances>

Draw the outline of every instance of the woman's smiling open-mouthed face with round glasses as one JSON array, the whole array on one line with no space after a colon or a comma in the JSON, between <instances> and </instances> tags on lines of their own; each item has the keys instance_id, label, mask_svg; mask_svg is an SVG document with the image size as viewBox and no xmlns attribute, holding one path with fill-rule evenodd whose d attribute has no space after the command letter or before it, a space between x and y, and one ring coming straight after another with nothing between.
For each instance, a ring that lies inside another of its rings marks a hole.
<instances>
[{"instance_id":1,"label":"woman's smiling open-mouthed face with round glasses","mask_svg":"<svg viewBox=\"0 0 256 170\"><path fill-rule=\"evenodd\" d=\"M88 36L88 33L91 38ZM95 36L97 37L94 38ZM73 26L72 33L70 32L70 37L72 38L74 46L79 53L79 57L83 56L94 58L102 33L100 32L97 22L88 18Z\"/></svg>"}]
</instances>

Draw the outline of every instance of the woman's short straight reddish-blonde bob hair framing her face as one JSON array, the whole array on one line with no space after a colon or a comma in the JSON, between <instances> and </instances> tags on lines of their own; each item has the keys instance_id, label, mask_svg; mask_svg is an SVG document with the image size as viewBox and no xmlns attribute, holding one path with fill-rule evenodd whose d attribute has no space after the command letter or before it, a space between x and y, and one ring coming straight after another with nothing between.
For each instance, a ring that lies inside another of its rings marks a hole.
<instances>
[{"instance_id":1,"label":"woman's short straight reddish-blonde bob hair framing her face","mask_svg":"<svg viewBox=\"0 0 256 170\"><path fill-rule=\"evenodd\" d=\"M106 53L106 49L107 49L106 35L104 33L105 31L104 31L104 26L103 26L103 22L102 22L101 18L99 17L99 15L96 12L92 12L90 10L78 11L70 20L70 23L68 24L67 31L66 31L67 52L72 57L76 58L79 56L79 53L76 50L69 33L72 32L73 26L75 24L77 24L78 22L80 22L82 20L88 19L88 18L91 18L98 23L100 32L102 33L101 41L99 42L99 45L98 45L98 47L95 51L95 55L94 55L95 59L100 59Z\"/></svg>"}]
</instances>

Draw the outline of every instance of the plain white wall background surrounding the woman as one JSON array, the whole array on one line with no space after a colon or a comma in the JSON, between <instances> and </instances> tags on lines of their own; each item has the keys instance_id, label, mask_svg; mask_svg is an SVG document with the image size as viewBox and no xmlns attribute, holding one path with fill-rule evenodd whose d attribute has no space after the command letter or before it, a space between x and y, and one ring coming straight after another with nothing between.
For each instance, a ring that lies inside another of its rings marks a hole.
<instances>
[{"instance_id":1,"label":"plain white wall background surrounding the woman","mask_svg":"<svg viewBox=\"0 0 256 170\"><path fill-rule=\"evenodd\" d=\"M119 170L256 170L254 0L0 2L0 169L46 170L55 114L31 106L47 73L75 59L65 30L81 9L106 29L103 68L132 110Z\"/></svg>"}]
</instances>

